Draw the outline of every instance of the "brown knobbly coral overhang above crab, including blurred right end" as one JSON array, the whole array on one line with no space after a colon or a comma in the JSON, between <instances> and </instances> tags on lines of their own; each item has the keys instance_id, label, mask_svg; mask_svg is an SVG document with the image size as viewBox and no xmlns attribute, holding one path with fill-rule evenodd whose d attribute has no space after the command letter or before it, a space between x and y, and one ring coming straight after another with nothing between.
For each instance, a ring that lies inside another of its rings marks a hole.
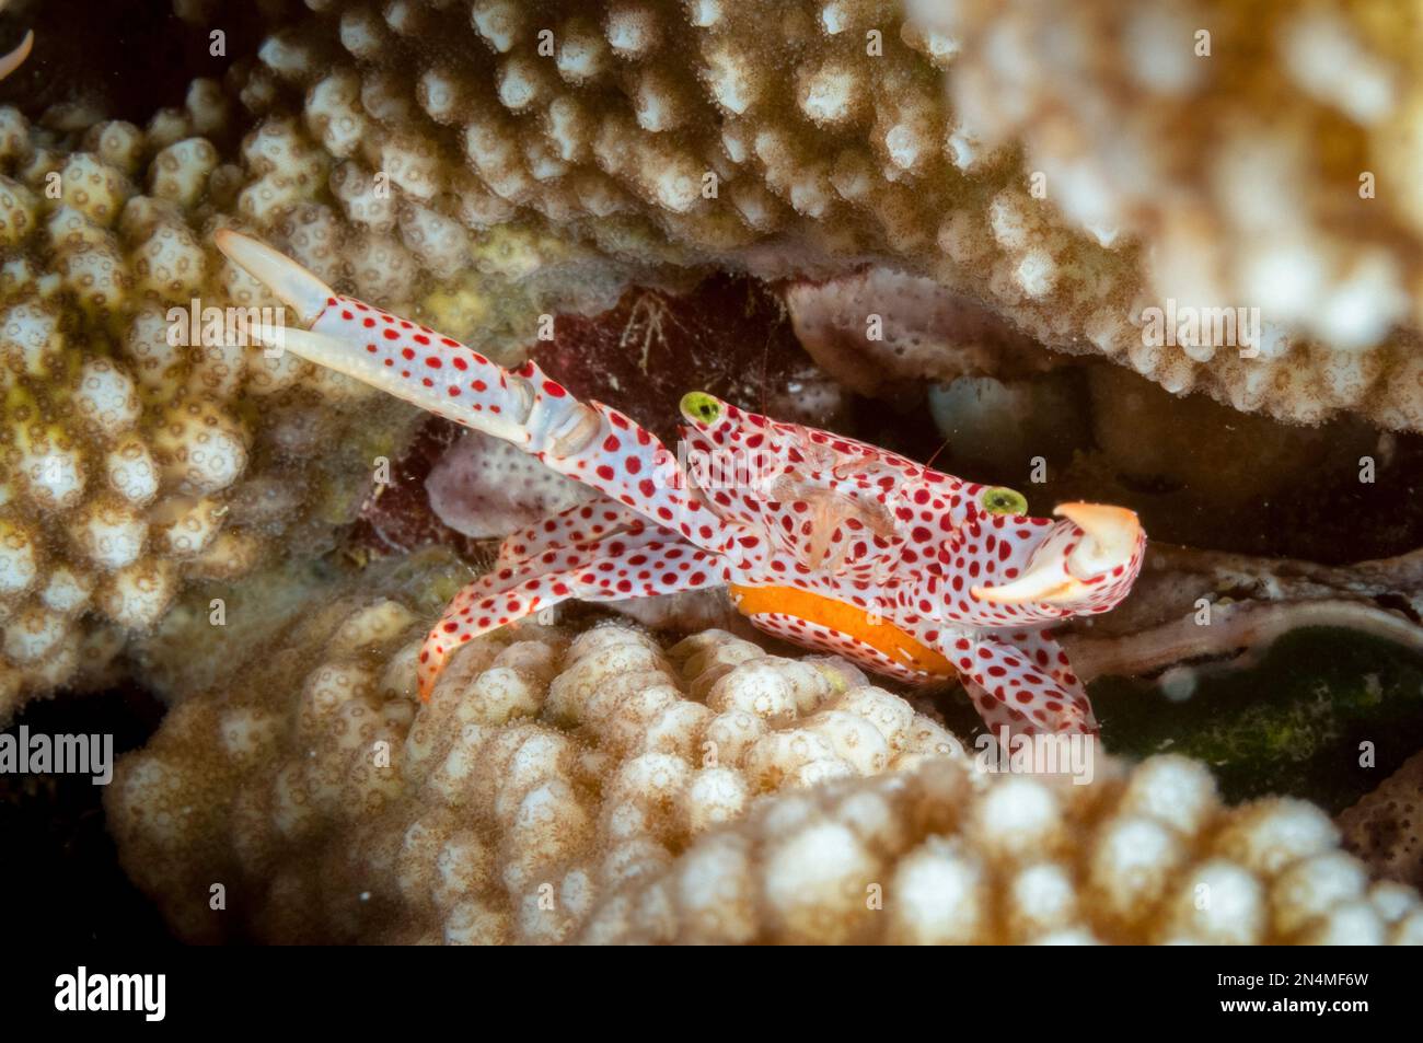
<instances>
[{"instance_id":1,"label":"brown knobbly coral overhang above crab, including blurred right end","mask_svg":"<svg viewBox=\"0 0 1423 1043\"><path fill-rule=\"evenodd\" d=\"M1035 0L804 0L770 17L736 0L326 7L269 37L235 78L240 98L268 122L300 108L330 165L322 219L371 250L360 270L404 272L410 289L417 272L458 283L472 258L518 287L492 295L497 314L480 290L430 295L454 336L491 319L527 334L539 279L606 300L639 272L690 265L844 276L811 290L817 314L844 317L840 339L875 356L869 260L885 269L871 285L915 283L877 290L895 307L932 289L929 317L962 317L976 300L1017 327L995 339L1106 354L1239 410L1423 428L1412 203L1390 189L1409 169L1416 105L1395 64L1413 30L1380 30L1380 4L1281 3L1264 33L1205 3L1063 20ZM1106 31L1116 20L1131 31ZM1215 27L1210 58L1192 53L1197 26ZM1332 63L1299 57L1340 26L1370 85L1362 107L1308 73ZM1057 54L1063 30L1079 46ZM1249 90L1221 90L1237 83ZM1376 199L1359 198L1366 169ZM595 276L599 256L619 263ZM1165 297L1261 307L1258 357L1147 343L1143 309ZM936 366L985 354L956 340L972 329L943 339Z\"/></svg>"}]
</instances>

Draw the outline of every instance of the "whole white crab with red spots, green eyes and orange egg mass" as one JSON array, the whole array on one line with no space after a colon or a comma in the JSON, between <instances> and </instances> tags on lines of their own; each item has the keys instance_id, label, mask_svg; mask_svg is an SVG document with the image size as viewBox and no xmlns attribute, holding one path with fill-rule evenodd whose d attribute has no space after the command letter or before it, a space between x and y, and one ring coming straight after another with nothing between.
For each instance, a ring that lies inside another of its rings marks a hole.
<instances>
[{"instance_id":1,"label":"whole white crab with red spots, green eyes and orange egg mass","mask_svg":"<svg viewBox=\"0 0 1423 1043\"><path fill-rule=\"evenodd\" d=\"M265 327L292 350L460 424L505 438L606 499L504 541L420 653L428 697L472 637L558 602L724 585L756 626L909 680L958 676L983 720L1013 731L1094 731L1047 626L1130 591L1146 535L1124 508L1025 498L840 435L693 391L683 455L534 363L517 371L418 323L324 286L232 231L216 243L309 330Z\"/></svg>"}]
</instances>

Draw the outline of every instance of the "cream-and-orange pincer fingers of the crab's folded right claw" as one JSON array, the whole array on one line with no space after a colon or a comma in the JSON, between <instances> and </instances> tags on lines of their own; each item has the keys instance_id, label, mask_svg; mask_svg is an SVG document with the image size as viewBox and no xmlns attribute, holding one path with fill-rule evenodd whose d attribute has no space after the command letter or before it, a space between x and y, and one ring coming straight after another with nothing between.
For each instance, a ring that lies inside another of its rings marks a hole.
<instances>
[{"instance_id":1,"label":"cream-and-orange pincer fingers of the crab's folded right claw","mask_svg":"<svg viewBox=\"0 0 1423 1043\"><path fill-rule=\"evenodd\" d=\"M1010 583L975 586L970 593L995 605L1069 603L1090 589L1086 581L1131 562L1141 539L1141 522L1124 507L1063 504L1053 514L1081 529L1067 554L1044 555Z\"/></svg>"}]
</instances>

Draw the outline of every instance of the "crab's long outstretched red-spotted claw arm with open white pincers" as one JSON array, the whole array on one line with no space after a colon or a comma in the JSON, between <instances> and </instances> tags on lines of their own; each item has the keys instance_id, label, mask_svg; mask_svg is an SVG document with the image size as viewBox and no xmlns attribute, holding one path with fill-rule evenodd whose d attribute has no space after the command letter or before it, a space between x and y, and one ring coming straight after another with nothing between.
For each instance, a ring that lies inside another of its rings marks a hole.
<instances>
[{"instance_id":1,"label":"crab's long outstretched red-spotted claw arm with open white pincers","mask_svg":"<svg viewBox=\"0 0 1423 1043\"><path fill-rule=\"evenodd\" d=\"M340 296L255 239L222 229L215 240L310 326L259 327L258 340L504 438L697 546L734 554L744 534L713 518L676 457L626 414L573 398L534 363L505 370L427 326Z\"/></svg>"}]
</instances>

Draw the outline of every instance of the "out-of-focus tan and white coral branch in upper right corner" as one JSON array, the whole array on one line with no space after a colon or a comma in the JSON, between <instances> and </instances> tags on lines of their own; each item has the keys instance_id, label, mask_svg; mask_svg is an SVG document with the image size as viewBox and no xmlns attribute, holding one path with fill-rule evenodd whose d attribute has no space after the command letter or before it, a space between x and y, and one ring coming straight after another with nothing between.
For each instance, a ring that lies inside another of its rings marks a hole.
<instances>
[{"instance_id":1,"label":"out-of-focus tan and white coral branch in upper right corner","mask_svg":"<svg viewBox=\"0 0 1423 1043\"><path fill-rule=\"evenodd\" d=\"M959 132L983 155L1020 147L1070 226L1140 243L1146 303L1262 310L1281 343L1258 371L1187 350L1234 404L1315 384L1313 414L1416 410L1417 342L1396 336L1419 326L1423 277L1420 211L1397 191L1419 158L1416 16L1302 0L922 7L959 44ZM1390 369L1405 390L1379 378Z\"/></svg>"}]
</instances>

